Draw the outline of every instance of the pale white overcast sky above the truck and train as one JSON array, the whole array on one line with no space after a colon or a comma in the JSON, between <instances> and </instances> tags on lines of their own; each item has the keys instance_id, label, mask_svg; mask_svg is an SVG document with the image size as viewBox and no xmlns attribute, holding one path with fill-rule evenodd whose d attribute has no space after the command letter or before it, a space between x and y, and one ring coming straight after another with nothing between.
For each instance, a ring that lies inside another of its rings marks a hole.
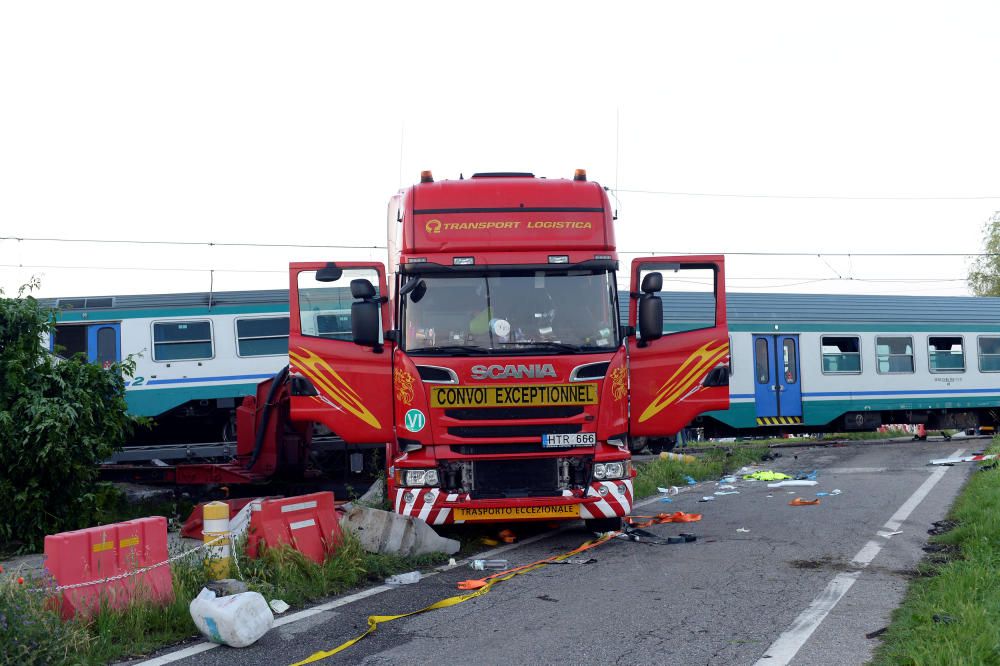
<instances>
[{"instance_id":1,"label":"pale white overcast sky above the truck and train","mask_svg":"<svg viewBox=\"0 0 1000 666\"><path fill-rule=\"evenodd\" d=\"M968 295L998 28L991 2L0 2L0 288L285 288L384 260L422 169L584 168L624 261Z\"/></svg>"}]
</instances>

